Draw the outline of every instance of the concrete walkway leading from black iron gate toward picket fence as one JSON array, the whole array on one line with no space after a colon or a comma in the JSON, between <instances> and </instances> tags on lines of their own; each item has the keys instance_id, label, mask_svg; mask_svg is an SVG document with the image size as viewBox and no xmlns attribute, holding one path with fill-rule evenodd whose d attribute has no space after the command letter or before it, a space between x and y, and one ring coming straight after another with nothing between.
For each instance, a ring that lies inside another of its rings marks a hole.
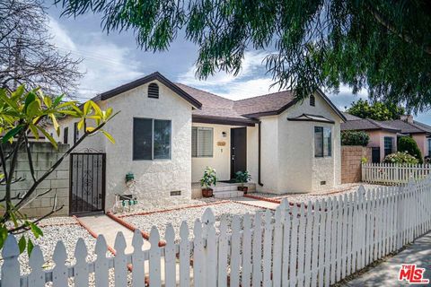
<instances>
[{"instance_id":1,"label":"concrete walkway leading from black iron gate toward picket fence","mask_svg":"<svg viewBox=\"0 0 431 287\"><path fill-rule=\"evenodd\" d=\"M97 235L102 234L106 239L106 243L111 248L114 248L117 233L119 231L123 232L124 238L126 239L126 243L128 245L128 247L126 248L126 253L130 253L133 251L133 232L131 230L128 230L123 225L119 224L119 222L114 222L105 214L84 216L80 217L79 219L84 222ZM144 239L144 249L148 248L150 248L150 243Z\"/></svg>"}]
</instances>

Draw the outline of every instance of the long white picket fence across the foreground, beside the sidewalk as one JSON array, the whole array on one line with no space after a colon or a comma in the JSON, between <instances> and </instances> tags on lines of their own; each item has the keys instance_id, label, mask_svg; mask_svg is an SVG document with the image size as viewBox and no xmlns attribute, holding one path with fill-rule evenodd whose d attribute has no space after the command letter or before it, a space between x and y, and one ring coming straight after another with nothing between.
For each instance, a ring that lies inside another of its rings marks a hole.
<instances>
[{"instance_id":1,"label":"long white picket fence across the foreground, beside the sidewalk","mask_svg":"<svg viewBox=\"0 0 431 287\"><path fill-rule=\"evenodd\" d=\"M262 216L263 215L263 216ZM115 286L330 286L412 242L431 228L431 178L405 187L382 187L354 194L333 196L301 207L286 200L275 213L266 211L232 224L222 220L218 229L211 209L197 220L193 239L186 222L175 243L172 225L167 226L166 246L159 248L159 231L151 230L151 248L142 250L143 238L136 231L134 251L125 254L126 242L118 234L117 255L106 257L107 245L97 239L94 262L86 262L87 250L80 239L76 263L66 266L66 249L60 241L54 252L55 267L42 269L44 258L35 247L30 258L31 274L20 278L19 251L13 236L6 239L1 286L88 285L108 286L114 268ZM130 268L131 269L131 268ZM146 270L146 272L145 272ZM112 280L112 279L111 279ZM396 278L394 278L396 280ZM112 282L111 282L112 283Z\"/></svg>"}]
</instances>

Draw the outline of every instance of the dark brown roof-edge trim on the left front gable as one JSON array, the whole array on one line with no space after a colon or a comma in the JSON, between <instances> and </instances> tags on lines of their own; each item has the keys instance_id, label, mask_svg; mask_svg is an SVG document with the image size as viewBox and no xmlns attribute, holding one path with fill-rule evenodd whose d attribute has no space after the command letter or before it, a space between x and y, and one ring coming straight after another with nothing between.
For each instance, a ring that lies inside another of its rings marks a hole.
<instances>
[{"instance_id":1,"label":"dark brown roof-edge trim on the left front gable","mask_svg":"<svg viewBox=\"0 0 431 287\"><path fill-rule=\"evenodd\" d=\"M115 89L112 89L110 91L102 92L101 94L92 98L92 100L93 101L108 100L112 97L119 95L122 92L135 89L136 87L139 87L145 83L153 82L155 80L159 81L160 83L163 83L165 86L167 86L169 89L171 89L172 91L177 93L184 100L189 101L189 103L193 107L195 107L197 109L200 109L202 107L202 104L198 100L196 100L195 98L190 96L186 91L181 90L180 87L178 87L176 84L169 81L167 78L165 78L163 76L163 74L160 74L159 72L154 72L153 74L146 75L145 77L142 77L142 78L137 79L135 81L132 81L130 83L125 83L125 84L123 84L123 85L121 85Z\"/></svg>"}]
</instances>

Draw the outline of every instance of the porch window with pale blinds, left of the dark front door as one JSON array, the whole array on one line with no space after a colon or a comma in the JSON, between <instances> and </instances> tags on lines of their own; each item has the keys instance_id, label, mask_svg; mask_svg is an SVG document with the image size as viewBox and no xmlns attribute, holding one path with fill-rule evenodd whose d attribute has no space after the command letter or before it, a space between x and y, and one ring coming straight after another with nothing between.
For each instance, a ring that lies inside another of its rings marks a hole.
<instances>
[{"instance_id":1,"label":"porch window with pale blinds, left of the dark front door","mask_svg":"<svg viewBox=\"0 0 431 287\"><path fill-rule=\"evenodd\" d=\"M212 127L191 127L191 156L193 158L213 157Z\"/></svg>"}]
</instances>

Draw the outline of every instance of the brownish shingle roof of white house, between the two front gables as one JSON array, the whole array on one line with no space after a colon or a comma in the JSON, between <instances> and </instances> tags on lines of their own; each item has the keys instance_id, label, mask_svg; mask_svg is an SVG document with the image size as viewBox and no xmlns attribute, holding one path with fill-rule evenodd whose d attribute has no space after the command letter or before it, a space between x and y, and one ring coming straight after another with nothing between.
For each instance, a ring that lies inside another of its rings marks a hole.
<instances>
[{"instance_id":1,"label":"brownish shingle roof of white house, between the two front gables","mask_svg":"<svg viewBox=\"0 0 431 287\"><path fill-rule=\"evenodd\" d=\"M256 117L279 115L298 102L293 91L278 91L244 100L229 100L182 83L176 83L176 85L202 102L202 109L193 110L193 117L224 117L250 121ZM328 97L323 92L318 92L323 100L330 105L330 108L339 117L346 120L346 117L332 104Z\"/></svg>"}]
</instances>

